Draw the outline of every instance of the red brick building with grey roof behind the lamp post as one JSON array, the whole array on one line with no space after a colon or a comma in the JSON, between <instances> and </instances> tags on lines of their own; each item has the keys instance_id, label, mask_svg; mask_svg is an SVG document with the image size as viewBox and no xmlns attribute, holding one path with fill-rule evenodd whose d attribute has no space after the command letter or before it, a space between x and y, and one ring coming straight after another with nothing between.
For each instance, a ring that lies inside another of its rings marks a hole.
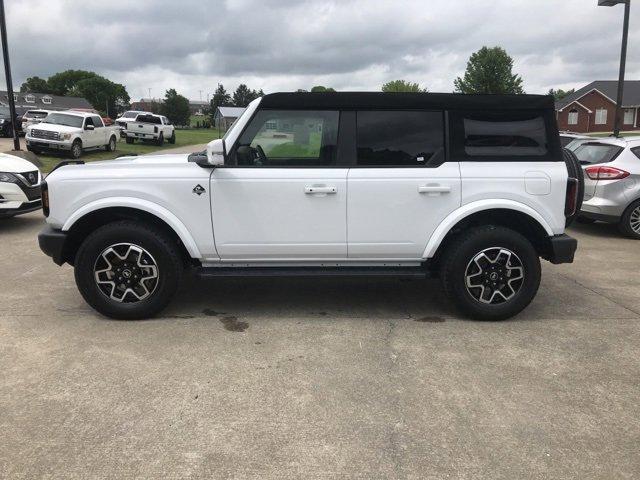
<instances>
[{"instance_id":1,"label":"red brick building with grey roof behind the lamp post","mask_svg":"<svg viewBox=\"0 0 640 480\"><path fill-rule=\"evenodd\" d=\"M577 133L611 132L615 121L618 82L601 80L556 102L558 127ZM640 130L640 80L624 83L623 131Z\"/></svg>"}]
</instances>

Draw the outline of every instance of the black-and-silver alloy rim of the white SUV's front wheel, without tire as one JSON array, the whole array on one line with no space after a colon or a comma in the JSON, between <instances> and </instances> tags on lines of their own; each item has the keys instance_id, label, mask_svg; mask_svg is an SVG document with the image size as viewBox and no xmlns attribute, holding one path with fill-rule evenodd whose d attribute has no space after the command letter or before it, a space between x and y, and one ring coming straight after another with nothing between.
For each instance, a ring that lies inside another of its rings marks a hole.
<instances>
[{"instance_id":1,"label":"black-and-silver alloy rim of the white SUV's front wheel, without tire","mask_svg":"<svg viewBox=\"0 0 640 480\"><path fill-rule=\"evenodd\" d=\"M159 269L155 259L132 243L118 243L104 249L93 272L98 289L120 303L142 301L158 286Z\"/></svg>"}]
</instances>

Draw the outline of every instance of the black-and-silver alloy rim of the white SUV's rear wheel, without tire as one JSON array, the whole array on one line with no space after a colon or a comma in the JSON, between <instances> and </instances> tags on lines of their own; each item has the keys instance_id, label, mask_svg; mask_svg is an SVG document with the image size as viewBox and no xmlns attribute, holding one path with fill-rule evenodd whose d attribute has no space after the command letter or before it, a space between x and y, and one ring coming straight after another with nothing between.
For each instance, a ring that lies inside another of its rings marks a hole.
<instances>
[{"instance_id":1,"label":"black-and-silver alloy rim of the white SUV's rear wheel, without tire","mask_svg":"<svg viewBox=\"0 0 640 480\"><path fill-rule=\"evenodd\" d=\"M475 300L488 305L508 302L524 284L524 266L511 250L491 247L467 264L465 285Z\"/></svg>"}]
</instances>

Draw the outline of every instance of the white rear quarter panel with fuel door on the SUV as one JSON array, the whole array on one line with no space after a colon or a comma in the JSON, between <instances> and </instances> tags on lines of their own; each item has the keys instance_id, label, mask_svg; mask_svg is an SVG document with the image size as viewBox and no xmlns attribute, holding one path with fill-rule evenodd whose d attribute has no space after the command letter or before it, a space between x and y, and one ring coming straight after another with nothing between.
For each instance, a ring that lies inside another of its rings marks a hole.
<instances>
[{"instance_id":1,"label":"white rear quarter panel with fuel door on the SUV","mask_svg":"<svg viewBox=\"0 0 640 480\"><path fill-rule=\"evenodd\" d=\"M512 200L535 210L553 234L564 232L567 167L564 162L461 162L462 205Z\"/></svg>"}]
</instances>

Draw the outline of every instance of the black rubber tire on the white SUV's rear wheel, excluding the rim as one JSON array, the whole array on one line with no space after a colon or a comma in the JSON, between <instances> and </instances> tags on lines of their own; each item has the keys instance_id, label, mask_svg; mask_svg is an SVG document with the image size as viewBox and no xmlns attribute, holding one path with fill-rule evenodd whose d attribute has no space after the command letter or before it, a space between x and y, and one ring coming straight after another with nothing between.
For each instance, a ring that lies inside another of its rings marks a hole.
<instances>
[{"instance_id":1,"label":"black rubber tire on the white SUV's rear wheel, excluding the rim","mask_svg":"<svg viewBox=\"0 0 640 480\"><path fill-rule=\"evenodd\" d=\"M467 289L466 272L477 254L495 247L506 248L519 257L524 279L510 300L485 304ZM540 270L540 258L529 240L508 228L488 225L463 232L453 241L444 253L440 278L445 293L464 315L475 320L505 320L524 310L536 296Z\"/></svg>"}]
</instances>

